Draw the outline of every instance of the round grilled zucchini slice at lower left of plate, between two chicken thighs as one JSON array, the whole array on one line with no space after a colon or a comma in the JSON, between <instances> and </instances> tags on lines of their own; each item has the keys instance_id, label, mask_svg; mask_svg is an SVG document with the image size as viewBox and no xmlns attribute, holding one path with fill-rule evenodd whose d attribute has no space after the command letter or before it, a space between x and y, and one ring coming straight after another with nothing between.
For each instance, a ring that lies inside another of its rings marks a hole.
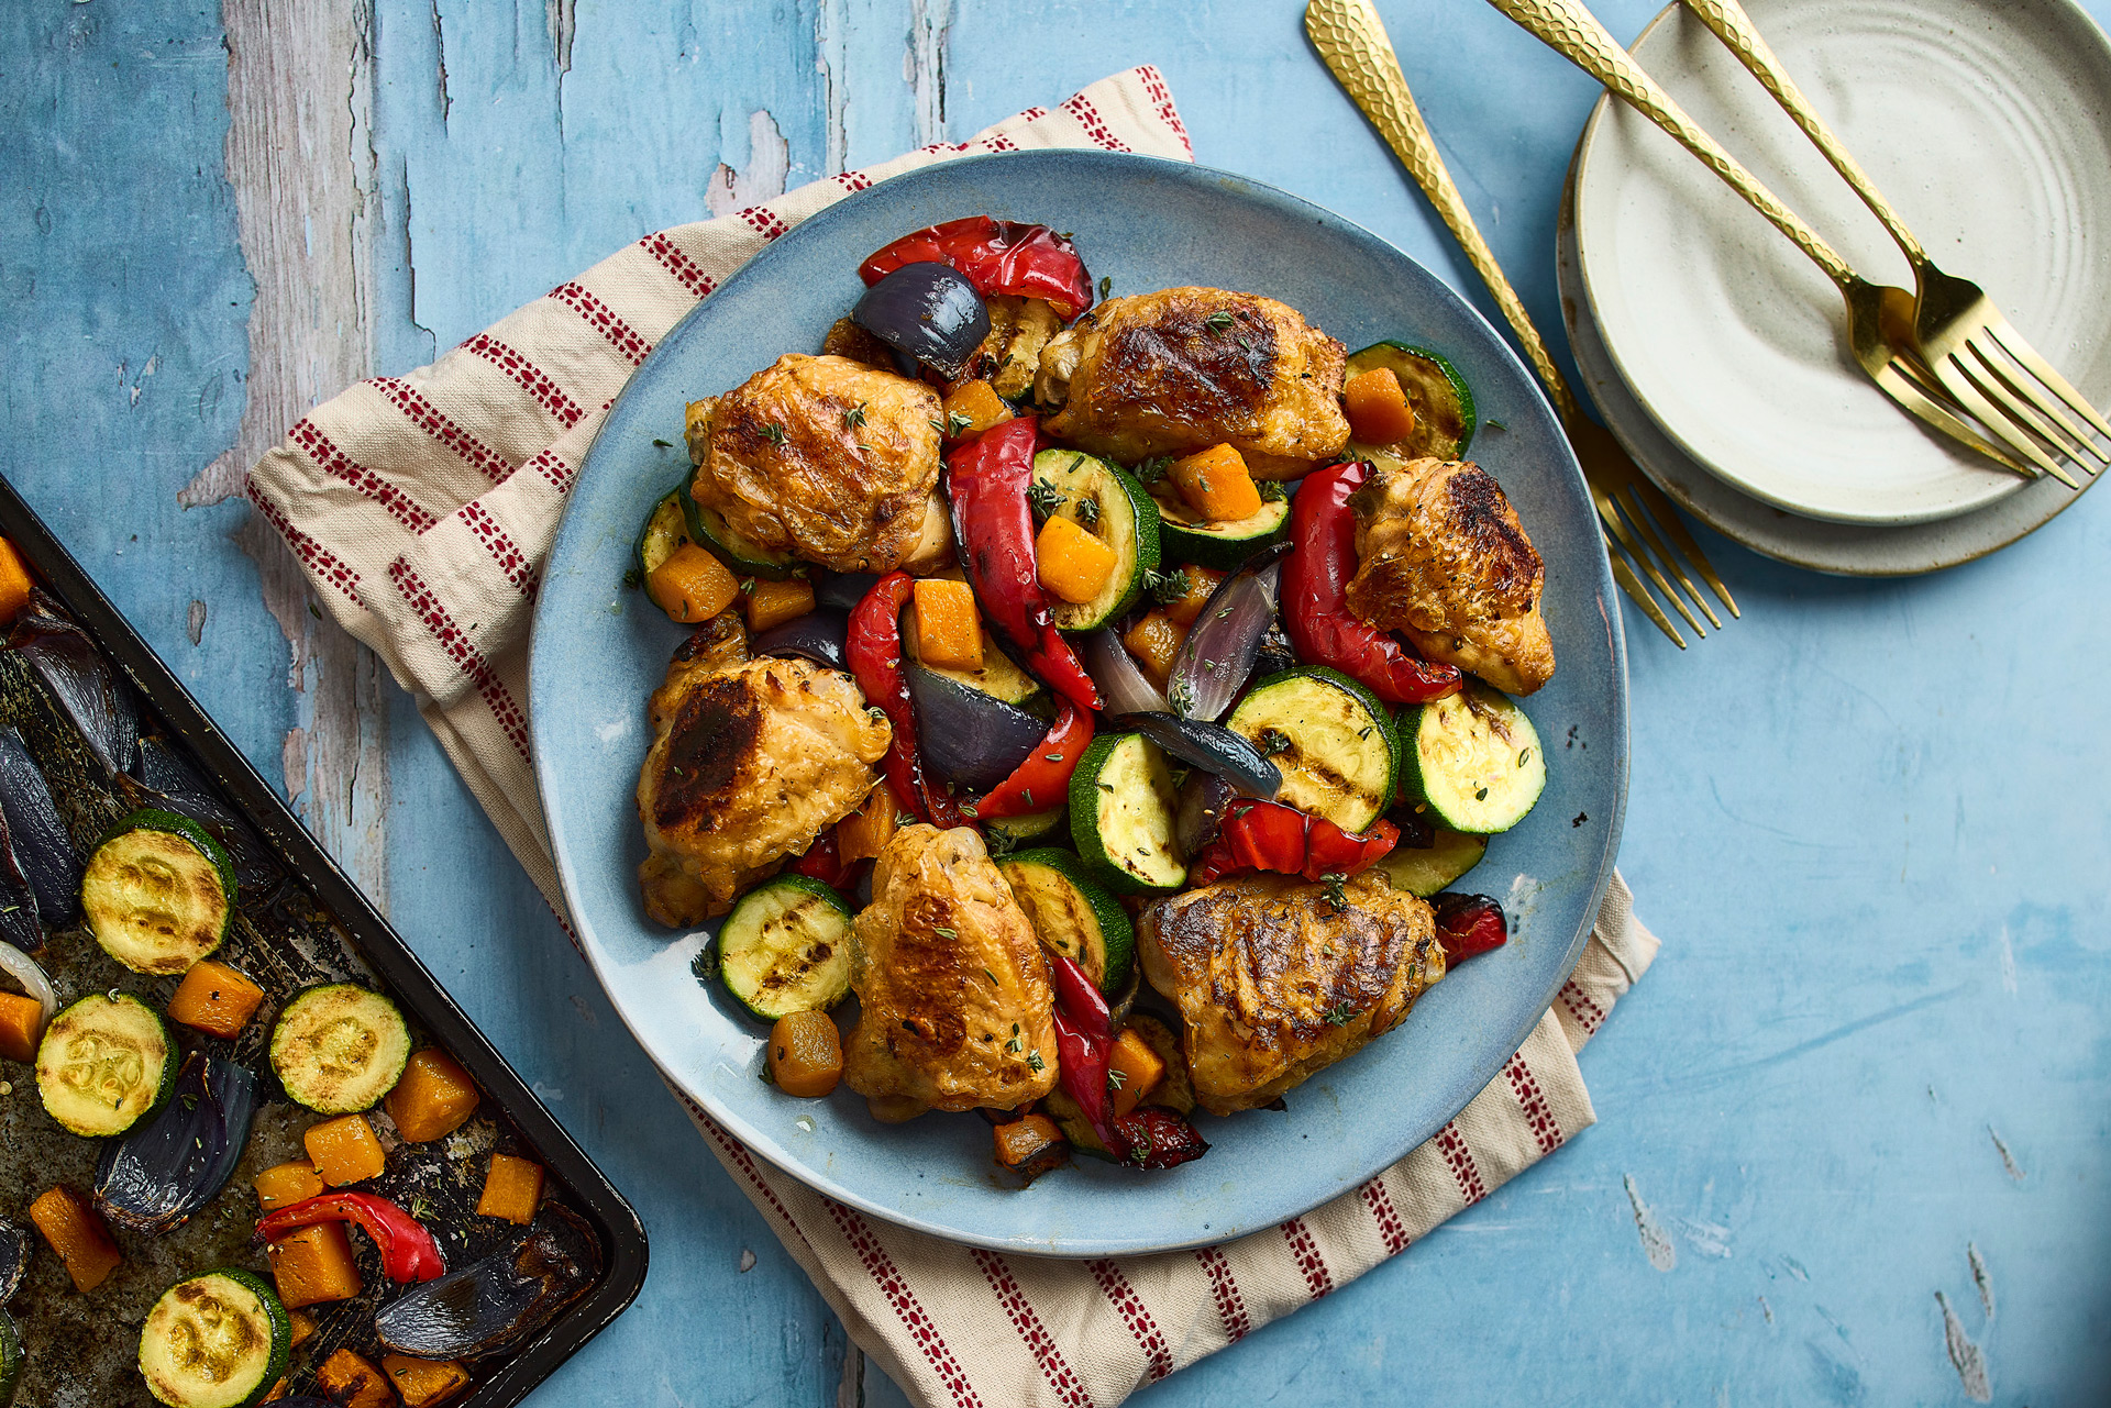
<instances>
[{"instance_id":1,"label":"round grilled zucchini slice at lower left of plate, between two chicken thighs","mask_svg":"<svg viewBox=\"0 0 2111 1408\"><path fill-rule=\"evenodd\" d=\"M747 891L718 931L718 977L764 1022L834 1007L851 992L851 906L811 876Z\"/></svg>"}]
</instances>

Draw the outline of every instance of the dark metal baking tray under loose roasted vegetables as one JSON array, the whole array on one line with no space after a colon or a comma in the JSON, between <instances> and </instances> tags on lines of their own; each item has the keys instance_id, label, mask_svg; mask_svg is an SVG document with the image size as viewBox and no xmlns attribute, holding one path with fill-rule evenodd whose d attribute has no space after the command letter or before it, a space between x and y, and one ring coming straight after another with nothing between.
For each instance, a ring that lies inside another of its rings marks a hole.
<instances>
[{"instance_id":1,"label":"dark metal baking tray under loose roasted vegetables","mask_svg":"<svg viewBox=\"0 0 2111 1408\"><path fill-rule=\"evenodd\" d=\"M137 697L139 732L158 735L169 754L190 764L207 792L217 792L220 802L247 823L260 842L258 863L268 861L272 868L262 872L270 882L258 895L245 884L241 916L249 922L239 925L220 954L234 956L236 967L245 967L236 950L247 946L247 965L260 969L251 971L251 977L268 992L266 1005L232 1047L220 1043L220 1049L260 1068L260 1087L274 1098L260 1104L243 1163L213 1201L184 1226L160 1237L120 1231L118 1245L127 1262L87 1296L74 1290L59 1258L30 1229L25 1210L53 1182L89 1191L101 1140L82 1140L59 1129L42 1110L34 1072L21 1066L6 1068L11 1087L0 1087L0 1216L36 1241L30 1273L8 1302L27 1349L17 1402L38 1408L131 1404L152 1408L154 1400L139 1378L135 1353L137 1326L154 1298L173 1281L213 1267L264 1269L262 1250L251 1243L255 1203L249 1178L258 1167L300 1157L300 1129L317 1119L277 1091L268 1062L258 1060L264 1032L279 1003L289 996L289 986L346 975L388 990L412 1026L448 1049L483 1091L483 1104L460 1131L433 1144L401 1144L399 1148L407 1150L401 1157L393 1150L391 1172L376 1180L376 1191L399 1201L420 1199L418 1205L429 1210L437 1207L439 1212L431 1216L448 1264L467 1267L517 1231L469 1212L481 1182L483 1155L492 1148L524 1153L547 1169L547 1197L581 1214L600 1237L602 1273L587 1294L528 1343L473 1362L475 1387L450 1400L460 1408L509 1408L521 1402L635 1300L646 1277L646 1233L638 1214L4 477L0 477L0 532L21 551L38 576L38 587L87 631L101 659L131 686ZM91 758L91 749L78 745L82 735L65 735L53 724L55 718L63 718L61 711L46 707L57 697L30 680L25 667L11 661L13 654L13 650L0 652L0 722L23 732L53 794L65 792L59 796L61 817L68 817L68 827L80 844L84 827L108 825L112 808L127 808L127 787L108 770L93 775L82 762ZM108 796L97 796L97 785ZM101 954L84 929L49 937L38 958L46 960L61 1003L116 984L163 1009L175 988L173 977L156 979L120 969ZM179 1045L203 1045L194 1043L196 1034L186 1028L171 1026L171 1030L177 1032ZM386 1121L382 1131L388 1131ZM312 1307L310 1313L321 1328L293 1353L287 1378L293 1393L312 1391L312 1368L338 1345L363 1353L369 1362L378 1359L380 1351L372 1338L374 1309L397 1288L391 1288L380 1273L374 1248L359 1237L355 1245L367 1290L359 1300Z\"/></svg>"}]
</instances>

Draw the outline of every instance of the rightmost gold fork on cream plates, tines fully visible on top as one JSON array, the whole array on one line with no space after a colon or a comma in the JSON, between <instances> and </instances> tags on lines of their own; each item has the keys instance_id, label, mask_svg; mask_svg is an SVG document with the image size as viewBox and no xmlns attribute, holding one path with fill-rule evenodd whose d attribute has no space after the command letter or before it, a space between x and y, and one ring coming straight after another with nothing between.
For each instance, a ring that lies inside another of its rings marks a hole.
<instances>
[{"instance_id":1,"label":"rightmost gold fork on cream plates, tines fully visible on top","mask_svg":"<svg viewBox=\"0 0 2111 1408\"><path fill-rule=\"evenodd\" d=\"M1803 135L1824 152L1841 179L1853 186L1862 203L1898 241L1906 262L1913 264L1919 287L1913 338L1921 361L1934 369L1942 388L2039 469L2058 473L2046 448L2071 458L2092 475L2096 464L2088 456L2111 464L2111 454L2060 414L2054 397L2107 437L2111 437L2111 422L2105 422L2096 407L2024 342L1984 289L1934 266L1921 241L1898 217L1898 211L1877 194L1877 184L1868 179L1862 165L1847 154L1847 148L1839 144L1803 91L1796 89L1744 6L1737 0L1687 0L1687 8L1699 15L1701 23L1737 55L1737 61L1752 70L1752 76L1788 110ZM2041 386L2050 388L2052 397Z\"/></svg>"}]
</instances>

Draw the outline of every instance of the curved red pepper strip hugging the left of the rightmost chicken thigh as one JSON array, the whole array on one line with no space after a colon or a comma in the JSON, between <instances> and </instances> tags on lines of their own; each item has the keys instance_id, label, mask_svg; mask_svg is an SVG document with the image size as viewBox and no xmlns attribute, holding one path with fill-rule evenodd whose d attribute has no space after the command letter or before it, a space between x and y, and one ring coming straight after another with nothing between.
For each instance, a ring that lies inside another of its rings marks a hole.
<instances>
[{"instance_id":1,"label":"curved red pepper strip hugging the left of the rightmost chicken thigh","mask_svg":"<svg viewBox=\"0 0 2111 1408\"><path fill-rule=\"evenodd\" d=\"M1290 500L1290 557L1283 559L1283 629L1307 665L1332 665L1387 703L1457 695L1457 665L1419 659L1395 635L1349 610L1355 576L1355 511L1349 494L1370 464L1345 460L1305 475Z\"/></svg>"}]
</instances>

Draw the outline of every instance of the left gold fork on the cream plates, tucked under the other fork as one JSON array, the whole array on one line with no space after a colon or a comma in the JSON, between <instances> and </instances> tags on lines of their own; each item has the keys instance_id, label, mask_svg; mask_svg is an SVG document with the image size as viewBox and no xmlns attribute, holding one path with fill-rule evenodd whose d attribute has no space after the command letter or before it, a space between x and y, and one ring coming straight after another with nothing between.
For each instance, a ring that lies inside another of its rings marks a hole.
<instances>
[{"instance_id":1,"label":"left gold fork on the cream plates, tucked under the other fork","mask_svg":"<svg viewBox=\"0 0 2111 1408\"><path fill-rule=\"evenodd\" d=\"M1959 410L1972 407L1972 401L1953 401L1946 382L1932 378L1927 367L1921 365L1913 342L1913 296L1906 289L1877 285L1856 274L1847 266L1847 260L1818 230L1782 205L1780 196L1767 190L1765 182L1723 150L1720 141L1701 131L1687 116L1685 108L1619 46L1619 40L1598 23L1598 17L1590 8L1579 0L1488 0L1488 4L1661 127L1678 146L1693 152L1710 171L1723 177L1725 186L1765 215L1775 230L1786 234L1796 249L1809 255L1847 300L1847 346L1853 350L1856 363L1900 410L2003 469L2016 471L2024 479L2037 477L2029 464L1989 441L1976 424L1959 416ZM1978 414L1976 407L1972 410ZM2008 439L2003 437L2003 441ZM2056 460L2043 454L2024 458L2060 481L2079 488Z\"/></svg>"}]
</instances>

